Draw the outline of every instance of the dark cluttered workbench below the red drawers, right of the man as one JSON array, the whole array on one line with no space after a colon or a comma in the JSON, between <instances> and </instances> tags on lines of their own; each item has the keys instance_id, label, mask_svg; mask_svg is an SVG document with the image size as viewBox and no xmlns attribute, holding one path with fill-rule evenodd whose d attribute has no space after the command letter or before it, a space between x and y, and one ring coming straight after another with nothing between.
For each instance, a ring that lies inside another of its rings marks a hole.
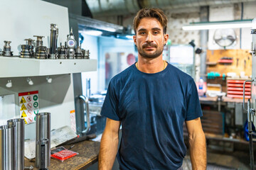
<instances>
[{"instance_id":1,"label":"dark cluttered workbench below the red drawers, right of the man","mask_svg":"<svg viewBox=\"0 0 256 170\"><path fill-rule=\"evenodd\" d=\"M207 139L248 143L242 135L247 118L246 112L242 109L242 98L206 96L200 97L199 101L203 111L201 123ZM247 99L245 99L245 108L247 108Z\"/></svg>"}]
</instances>

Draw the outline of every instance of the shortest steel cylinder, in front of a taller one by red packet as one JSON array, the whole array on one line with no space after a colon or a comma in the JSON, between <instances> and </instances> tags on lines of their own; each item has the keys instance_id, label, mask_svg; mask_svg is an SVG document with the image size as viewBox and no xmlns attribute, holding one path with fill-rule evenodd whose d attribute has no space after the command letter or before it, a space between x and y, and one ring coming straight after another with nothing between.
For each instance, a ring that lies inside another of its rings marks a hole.
<instances>
[{"instance_id":1,"label":"shortest steel cylinder, in front of a taller one by red packet","mask_svg":"<svg viewBox=\"0 0 256 170\"><path fill-rule=\"evenodd\" d=\"M50 166L50 150L49 148L49 140L48 139L41 139L36 142L36 145L38 146L38 160L39 160L39 166L38 169L48 169L48 166Z\"/></svg>"}]
</instances>

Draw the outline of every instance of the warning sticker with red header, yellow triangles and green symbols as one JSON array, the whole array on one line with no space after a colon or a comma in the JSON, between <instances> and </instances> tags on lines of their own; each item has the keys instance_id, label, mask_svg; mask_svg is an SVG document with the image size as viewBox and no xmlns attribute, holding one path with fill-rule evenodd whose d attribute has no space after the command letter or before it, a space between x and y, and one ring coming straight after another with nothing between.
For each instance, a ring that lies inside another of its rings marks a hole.
<instances>
[{"instance_id":1,"label":"warning sticker with red header, yellow triangles and green symbols","mask_svg":"<svg viewBox=\"0 0 256 170\"><path fill-rule=\"evenodd\" d=\"M18 94L20 118L26 124L36 122L36 113L39 113L38 91L28 91Z\"/></svg>"}]
</instances>

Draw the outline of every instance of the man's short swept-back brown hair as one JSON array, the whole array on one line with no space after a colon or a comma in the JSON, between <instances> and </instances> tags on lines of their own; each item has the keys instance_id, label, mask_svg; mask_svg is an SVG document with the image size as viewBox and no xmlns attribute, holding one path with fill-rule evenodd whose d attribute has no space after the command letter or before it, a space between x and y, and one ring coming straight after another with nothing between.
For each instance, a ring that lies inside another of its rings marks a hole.
<instances>
[{"instance_id":1,"label":"man's short swept-back brown hair","mask_svg":"<svg viewBox=\"0 0 256 170\"><path fill-rule=\"evenodd\" d=\"M156 18L161 26L164 28L164 34L166 34L167 28L167 17L164 15L164 12L159 8L142 8L139 10L134 17L133 25L134 25L134 33L136 35L136 30L139 26L139 22L142 18Z\"/></svg>"}]
</instances>

